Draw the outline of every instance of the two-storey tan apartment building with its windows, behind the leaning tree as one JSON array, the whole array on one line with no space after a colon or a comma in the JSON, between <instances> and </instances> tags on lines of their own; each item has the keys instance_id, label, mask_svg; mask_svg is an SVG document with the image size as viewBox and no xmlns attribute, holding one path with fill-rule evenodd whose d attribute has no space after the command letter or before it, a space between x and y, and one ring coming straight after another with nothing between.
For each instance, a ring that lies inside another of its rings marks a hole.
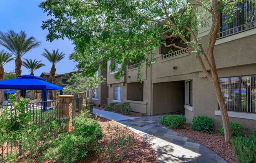
<instances>
[{"instance_id":1,"label":"two-storey tan apartment building with its windows, behind the leaning tree","mask_svg":"<svg viewBox=\"0 0 256 163\"><path fill-rule=\"evenodd\" d=\"M256 19L253 16L256 8L251 5L254 4L247 3L230 25L222 25L225 15L221 16L214 48L230 121L242 123L249 132L256 129ZM198 37L204 48L207 48L209 30L210 27L199 27ZM148 115L184 112L188 122L197 115L209 116L218 129L222 120L214 88L196 56L175 48L172 53L169 50L163 46L157 48L156 61L149 67L142 66L142 83L137 79L138 63L128 65L123 78L115 80L113 75L119 70L110 71L109 61L108 103L128 102L133 111Z\"/></svg>"}]
</instances>

